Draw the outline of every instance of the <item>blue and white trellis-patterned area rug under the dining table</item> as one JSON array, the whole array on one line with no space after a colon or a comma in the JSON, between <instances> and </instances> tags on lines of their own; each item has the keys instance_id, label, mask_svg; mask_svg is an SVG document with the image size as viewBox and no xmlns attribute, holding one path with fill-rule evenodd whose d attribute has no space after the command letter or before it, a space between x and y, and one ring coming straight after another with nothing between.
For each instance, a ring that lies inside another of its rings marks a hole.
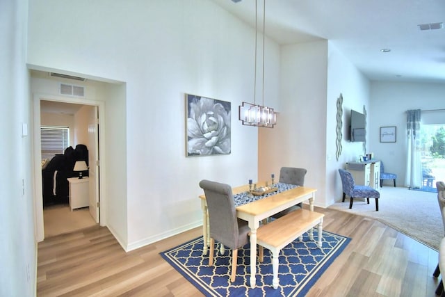
<instances>
[{"instance_id":1,"label":"blue and white trellis-patterned area rug under the dining table","mask_svg":"<svg viewBox=\"0 0 445 297\"><path fill-rule=\"evenodd\" d=\"M314 230L314 239L318 239ZM202 236L161 252L161 256L205 296L305 296L323 272L341 254L350 239L323 231L322 247L304 234L303 241L293 241L280 252L278 276L280 287L272 287L271 253L264 249L264 262L257 264L257 285L250 288L250 244L238 249L235 282L230 282L230 259L215 248L214 265L209 267L209 252L202 255Z\"/></svg>"}]
</instances>

